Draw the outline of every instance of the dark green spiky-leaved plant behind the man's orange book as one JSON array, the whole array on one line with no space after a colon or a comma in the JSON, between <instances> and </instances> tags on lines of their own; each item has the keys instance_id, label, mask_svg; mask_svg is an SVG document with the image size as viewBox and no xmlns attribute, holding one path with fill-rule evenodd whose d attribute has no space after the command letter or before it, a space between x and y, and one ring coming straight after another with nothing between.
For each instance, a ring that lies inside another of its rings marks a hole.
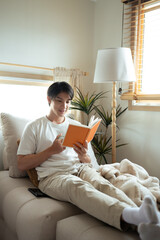
<instances>
[{"instance_id":1,"label":"dark green spiky-leaved plant behind the man's orange book","mask_svg":"<svg viewBox=\"0 0 160 240\"><path fill-rule=\"evenodd\" d=\"M77 88L78 96L75 97L71 102L70 109L74 109L77 111L81 111L86 115L86 124L88 125L89 117L91 113L97 114L102 119L102 128L99 132L96 133L95 137L92 140L92 146L97 157L99 164L107 163L107 154L111 154L112 152L112 137L108 134L108 127L112 123L112 113L105 111L102 105L99 105L99 100L102 98L106 98L106 94L108 92L99 92L99 93L87 93L85 96L82 94L79 88ZM116 109L116 117L120 117L127 108L122 109L120 105L117 106ZM117 129L118 126L117 126ZM118 143L119 139L116 141ZM126 145L117 144L116 147L122 147Z\"/></svg>"}]
</instances>

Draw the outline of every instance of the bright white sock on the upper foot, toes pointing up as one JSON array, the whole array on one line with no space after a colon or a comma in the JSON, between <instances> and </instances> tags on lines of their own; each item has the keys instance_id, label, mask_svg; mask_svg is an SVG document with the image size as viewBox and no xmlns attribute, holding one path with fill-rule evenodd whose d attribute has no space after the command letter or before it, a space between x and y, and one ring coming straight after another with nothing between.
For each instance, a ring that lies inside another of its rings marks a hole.
<instances>
[{"instance_id":1,"label":"bright white sock on the upper foot, toes pointing up","mask_svg":"<svg viewBox=\"0 0 160 240\"><path fill-rule=\"evenodd\" d=\"M159 223L160 215L155 202L146 196L140 207L127 207L123 210L122 218L125 222L138 226L140 223Z\"/></svg>"}]
</instances>

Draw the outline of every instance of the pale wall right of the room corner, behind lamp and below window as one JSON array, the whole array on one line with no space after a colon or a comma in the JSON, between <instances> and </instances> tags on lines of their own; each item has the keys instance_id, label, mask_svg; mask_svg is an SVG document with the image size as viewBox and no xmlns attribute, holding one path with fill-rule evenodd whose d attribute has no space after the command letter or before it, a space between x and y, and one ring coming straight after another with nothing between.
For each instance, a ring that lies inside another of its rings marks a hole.
<instances>
[{"instance_id":1,"label":"pale wall right of the room corner, behind lamp and below window","mask_svg":"<svg viewBox=\"0 0 160 240\"><path fill-rule=\"evenodd\" d=\"M122 8L120 0L97 0L94 58L98 49L121 46ZM111 90L111 86L99 84L96 89ZM117 99L122 106L127 106L126 101ZM118 120L118 125L118 137L128 145L117 149L117 160L128 158L145 167L150 175L160 178L160 113L127 111Z\"/></svg>"}]
</instances>

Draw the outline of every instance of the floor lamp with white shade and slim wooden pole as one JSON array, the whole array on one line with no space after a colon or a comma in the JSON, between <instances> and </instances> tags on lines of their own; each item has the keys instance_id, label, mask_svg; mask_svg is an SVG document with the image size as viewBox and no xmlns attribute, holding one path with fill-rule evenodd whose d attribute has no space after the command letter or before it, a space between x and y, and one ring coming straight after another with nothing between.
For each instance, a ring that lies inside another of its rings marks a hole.
<instances>
[{"instance_id":1,"label":"floor lamp with white shade and slim wooden pole","mask_svg":"<svg viewBox=\"0 0 160 240\"><path fill-rule=\"evenodd\" d=\"M130 48L98 51L94 83L112 83L112 163L116 162L116 83L134 82L135 70Z\"/></svg>"}]
</instances>

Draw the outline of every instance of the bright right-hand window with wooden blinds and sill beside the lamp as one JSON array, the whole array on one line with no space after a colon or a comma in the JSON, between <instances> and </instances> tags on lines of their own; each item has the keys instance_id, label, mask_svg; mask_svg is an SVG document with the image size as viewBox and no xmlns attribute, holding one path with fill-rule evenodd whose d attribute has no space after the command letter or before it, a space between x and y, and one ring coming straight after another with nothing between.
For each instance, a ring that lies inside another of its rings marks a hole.
<instances>
[{"instance_id":1,"label":"bright right-hand window with wooden blinds and sill beside the lamp","mask_svg":"<svg viewBox=\"0 0 160 240\"><path fill-rule=\"evenodd\" d=\"M160 0L123 2L123 46L131 48L137 81L121 98L130 109L160 110Z\"/></svg>"}]
</instances>

